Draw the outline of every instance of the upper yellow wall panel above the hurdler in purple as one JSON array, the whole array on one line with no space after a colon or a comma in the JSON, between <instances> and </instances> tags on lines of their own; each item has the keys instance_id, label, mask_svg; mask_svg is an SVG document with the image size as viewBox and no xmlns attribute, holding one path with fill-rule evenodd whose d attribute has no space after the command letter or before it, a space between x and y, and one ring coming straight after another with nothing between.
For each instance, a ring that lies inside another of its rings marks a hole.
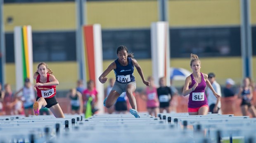
<instances>
[{"instance_id":1,"label":"upper yellow wall panel above the hurdler in purple","mask_svg":"<svg viewBox=\"0 0 256 143\"><path fill-rule=\"evenodd\" d=\"M240 24L240 0L170 0L170 26Z\"/></svg>"}]
</instances>

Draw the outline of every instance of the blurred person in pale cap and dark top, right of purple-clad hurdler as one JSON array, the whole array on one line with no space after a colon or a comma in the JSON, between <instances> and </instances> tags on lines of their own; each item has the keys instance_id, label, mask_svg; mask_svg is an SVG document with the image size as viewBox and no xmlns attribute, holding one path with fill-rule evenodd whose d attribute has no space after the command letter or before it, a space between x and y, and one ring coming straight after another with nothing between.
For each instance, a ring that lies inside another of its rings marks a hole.
<instances>
[{"instance_id":1,"label":"blurred person in pale cap and dark top, right of purple-clad hurdler","mask_svg":"<svg viewBox=\"0 0 256 143\"><path fill-rule=\"evenodd\" d=\"M234 114L235 112L235 96L236 93L232 88L235 85L235 81L231 78L226 79L226 86L223 89L223 106L222 113L223 114Z\"/></svg>"}]
</instances>

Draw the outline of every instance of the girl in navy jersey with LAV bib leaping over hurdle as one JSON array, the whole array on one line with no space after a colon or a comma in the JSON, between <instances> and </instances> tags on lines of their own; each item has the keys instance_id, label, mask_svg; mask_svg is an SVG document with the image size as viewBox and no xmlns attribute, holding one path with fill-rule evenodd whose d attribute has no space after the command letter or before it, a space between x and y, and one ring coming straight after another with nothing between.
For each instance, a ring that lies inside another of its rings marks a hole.
<instances>
[{"instance_id":1,"label":"girl in navy jersey with LAV bib leaping over hurdle","mask_svg":"<svg viewBox=\"0 0 256 143\"><path fill-rule=\"evenodd\" d=\"M140 115L137 112L136 99L133 96L133 92L136 89L135 77L133 76L134 67L136 67L138 73L140 74L143 83L147 86L149 86L150 83L145 81L140 65L138 64L137 60L134 59L133 53L128 53L126 46L119 46L116 53L118 59L112 62L99 77L99 81L101 83L105 83L107 81L106 76L110 71L114 70L116 75L114 86L108 97L104 99L104 106L110 108L116 102L116 99L123 92L126 92L132 107L132 109L130 109L130 113L133 114L135 118L140 118Z\"/></svg>"}]
</instances>

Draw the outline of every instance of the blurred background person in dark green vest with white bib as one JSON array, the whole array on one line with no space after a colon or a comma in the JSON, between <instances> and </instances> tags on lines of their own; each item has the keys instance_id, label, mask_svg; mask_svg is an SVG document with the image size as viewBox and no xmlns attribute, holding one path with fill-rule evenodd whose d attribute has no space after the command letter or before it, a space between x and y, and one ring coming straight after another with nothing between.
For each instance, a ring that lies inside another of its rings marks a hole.
<instances>
[{"instance_id":1,"label":"blurred background person in dark green vest with white bib","mask_svg":"<svg viewBox=\"0 0 256 143\"><path fill-rule=\"evenodd\" d=\"M70 99L71 114L83 113L83 99L82 94L76 91L75 88L69 90L67 97Z\"/></svg>"}]
</instances>

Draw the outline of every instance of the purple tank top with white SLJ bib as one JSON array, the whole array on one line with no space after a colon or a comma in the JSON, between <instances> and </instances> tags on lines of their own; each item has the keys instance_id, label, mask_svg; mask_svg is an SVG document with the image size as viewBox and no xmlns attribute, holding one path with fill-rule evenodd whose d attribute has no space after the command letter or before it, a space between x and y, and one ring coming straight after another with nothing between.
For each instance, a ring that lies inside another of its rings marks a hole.
<instances>
[{"instance_id":1,"label":"purple tank top with white SLJ bib","mask_svg":"<svg viewBox=\"0 0 256 143\"><path fill-rule=\"evenodd\" d=\"M201 74L201 83L198 83L197 88L194 91L190 92L188 108L198 108L203 105L208 105L208 101L205 95L206 82L204 81L203 74L201 72L200 74ZM188 86L188 88L192 88L193 85L196 83L196 81L194 80L194 76L192 74L190 76L191 76L192 83L191 85Z\"/></svg>"}]
</instances>

